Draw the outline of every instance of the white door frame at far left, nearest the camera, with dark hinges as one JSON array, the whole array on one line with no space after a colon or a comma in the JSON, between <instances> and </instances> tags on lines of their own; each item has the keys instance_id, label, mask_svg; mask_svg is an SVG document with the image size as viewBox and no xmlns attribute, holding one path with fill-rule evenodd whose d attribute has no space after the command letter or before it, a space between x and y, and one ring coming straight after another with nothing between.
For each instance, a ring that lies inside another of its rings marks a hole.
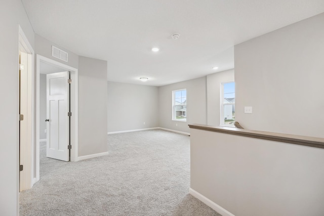
<instances>
[{"instance_id":1,"label":"white door frame at far left, nearest the camera, with dark hinges","mask_svg":"<svg viewBox=\"0 0 324 216\"><path fill-rule=\"evenodd\" d=\"M28 55L28 66L26 69L28 70L28 78L27 78L27 86L28 86L28 93L27 93L27 103L30 104L29 107L31 108L27 112L27 116L25 117L25 121L27 121L27 152L24 152L26 155L24 161L21 161L23 165L26 167L31 167L31 172L26 173L26 177L30 178L28 181L28 184L30 183L30 186L26 186L28 188L31 188L35 181L35 175L33 170L33 158L34 158L34 148L35 148L35 136L34 136L34 129L35 129L35 107L34 107L34 79L35 79L35 72L34 72L34 50L32 46L30 45L24 31L22 30L21 26L18 24L18 67L19 67L19 55L20 50L24 50L25 53ZM18 68L19 73L19 68ZM20 82L19 76L18 76L18 82ZM18 85L18 88L20 86ZM20 95L18 94L18 101L19 101ZM18 102L19 106L20 103ZM18 126L19 127L19 126ZM18 145L19 145L19 135L20 134L20 128L18 129ZM17 164L19 164L20 160L20 148L18 146L18 157L17 157ZM19 172L19 166L17 166L17 172L18 172L18 191L19 191L19 178L20 178L20 172Z\"/></svg>"}]
</instances>

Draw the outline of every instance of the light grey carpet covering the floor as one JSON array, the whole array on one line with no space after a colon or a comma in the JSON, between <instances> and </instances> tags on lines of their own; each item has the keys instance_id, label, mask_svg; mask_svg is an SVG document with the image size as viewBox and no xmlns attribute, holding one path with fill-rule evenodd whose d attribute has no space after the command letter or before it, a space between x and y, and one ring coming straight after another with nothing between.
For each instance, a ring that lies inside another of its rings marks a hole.
<instances>
[{"instance_id":1,"label":"light grey carpet covering the floor","mask_svg":"<svg viewBox=\"0 0 324 216\"><path fill-rule=\"evenodd\" d=\"M164 130L108 135L109 155L46 158L41 180L20 193L20 215L220 215L188 194L189 136Z\"/></svg>"}]
</instances>

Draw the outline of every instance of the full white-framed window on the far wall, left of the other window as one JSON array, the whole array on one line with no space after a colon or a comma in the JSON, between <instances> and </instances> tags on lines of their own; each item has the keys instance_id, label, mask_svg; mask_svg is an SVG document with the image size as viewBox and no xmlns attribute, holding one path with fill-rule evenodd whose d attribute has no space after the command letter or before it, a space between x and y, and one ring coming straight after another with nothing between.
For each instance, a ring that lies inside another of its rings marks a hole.
<instances>
[{"instance_id":1,"label":"full white-framed window on the far wall, left of the other window","mask_svg":"<svg viewBox=\"0 0 324 216\"><path fill-rule=\"evenodd\" d=\"M187 90L181 89L172 91L172 98L172 119L187 121Z\"/></svg>"}]
</instances>

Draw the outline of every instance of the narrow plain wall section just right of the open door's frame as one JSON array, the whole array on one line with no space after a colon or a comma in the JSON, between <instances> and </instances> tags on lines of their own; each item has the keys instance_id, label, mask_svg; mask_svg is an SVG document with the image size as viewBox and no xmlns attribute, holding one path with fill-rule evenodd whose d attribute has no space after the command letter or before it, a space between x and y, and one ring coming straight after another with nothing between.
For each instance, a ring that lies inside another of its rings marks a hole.
<instances>
[{"instance_id":1,"label":"narrow plain wall section just right of the open door's frame","mask_svg":"<svg viewBox=\"0 0 324 216\"><path fill-rule=\"evenodd\" d=\"M107 152L107 61L78 62L78 156Z\"/></svg>"}]
</instances>

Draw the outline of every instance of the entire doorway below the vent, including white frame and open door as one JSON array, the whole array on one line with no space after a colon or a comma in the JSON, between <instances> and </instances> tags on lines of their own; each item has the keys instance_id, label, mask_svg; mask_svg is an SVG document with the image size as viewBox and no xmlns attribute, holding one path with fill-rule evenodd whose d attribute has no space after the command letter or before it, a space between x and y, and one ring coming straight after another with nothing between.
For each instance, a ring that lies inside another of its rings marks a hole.
<instances>
[{"instance_id":1,"label":"entire doorway below the vent, including white frame and open door","mask_svg":"<svg viewBox=\"0 0 324 216\"><path fill-rule=\"evenodd\" d=\"M50 158L63 161L77 160L77 78L76 68L41 55L36 56L37 115L35 170L37 181L39 180L40 148L44 150L46 146L46 155ZM67 91L65 91L66 86L69 86ZM64 92L63 95L61 94L62 91ZM56 111L57 121L53 117L54 110ZM65 123L61 125L63 121ZM49 135L50 133L52 134L51 136ZM54 136L53 134L56 135ZM61 140L60 142L55 142L56 146L53 147L50 145L51 142L54 143L53 137L64 137L68 141ZM68 154L67 158L66 153ZM61 157L62 154L65 155Z\"/></svg>"}]
</instances>

